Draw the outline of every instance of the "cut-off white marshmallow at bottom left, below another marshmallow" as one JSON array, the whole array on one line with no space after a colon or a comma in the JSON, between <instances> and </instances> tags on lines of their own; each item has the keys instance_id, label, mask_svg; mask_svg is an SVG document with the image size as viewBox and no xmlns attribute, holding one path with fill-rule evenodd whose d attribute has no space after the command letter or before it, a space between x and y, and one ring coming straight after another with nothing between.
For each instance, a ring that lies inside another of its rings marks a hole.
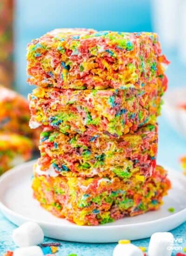
<instances>
[{"instance_id":1,"label":"cut-off white marshmallow at bottom left, below another marshmallow","mask_svg":"<svg viewBox=\"0 0 186 256\"><path fill-rule=\"evenodd\" d=\"M29 246L15 249L13 256L44 256L44 254L39 246Z\"/></svg>"}]
</instances>

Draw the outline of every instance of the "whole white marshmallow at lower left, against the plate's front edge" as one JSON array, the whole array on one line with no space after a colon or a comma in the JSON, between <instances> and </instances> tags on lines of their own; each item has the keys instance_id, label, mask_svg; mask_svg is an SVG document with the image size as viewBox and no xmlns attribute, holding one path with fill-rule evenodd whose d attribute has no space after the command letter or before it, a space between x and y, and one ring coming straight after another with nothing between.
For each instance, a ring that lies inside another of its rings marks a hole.
<instances>
[{"instance_id":1,"label":"whole white marshmallow at lower left, against the plate's front edge","mask_svg":"<svg viewBox=\"0 0 186 256\"><path fill-rule=\"evenodd\" d=\"M19 247L38 245L43 242L44 234L35 222L25 222L13 230L13 242Z\"/></svg>"}]
</instances>

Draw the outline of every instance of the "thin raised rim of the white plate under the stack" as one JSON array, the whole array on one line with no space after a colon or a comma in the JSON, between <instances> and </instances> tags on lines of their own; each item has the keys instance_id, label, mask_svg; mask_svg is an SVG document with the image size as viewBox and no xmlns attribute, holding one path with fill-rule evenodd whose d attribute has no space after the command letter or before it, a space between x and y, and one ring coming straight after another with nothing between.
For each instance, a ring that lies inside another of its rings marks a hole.
<instances>
[{"instance_id":1,"label":"thin raised rim of the white plate under the stack","mask_svg":"<svg viewBox=\"0 0 186 256\"><path fill-rule=\"evenodd\" d=\"M34 164L34 162L36 162L36 159L34 159L32 161L29 161L29 162L24 162L20 165L17 165L15 167L9 169L7 172L5 172L4 174L2 174L0 176L0 183L3 182L3 180L6 179L8 176L10 176L10 175L12 175L16 172L19 172L20 168L23 168L23 167L25 168L26 166L31 166L31 165ZM184 178L186 180L186 177L180 171L175 171L175 170L173 170L173 168L169 168L169 167L165 167L165 169L168 170L168 173L171 172L174 175L180 176L182 179ZM119 225L112 224L111 226L109 226L109 225L98 225L98 226L84 226L84 225L81 225L80 226L80 225L76 225L75 223L72 223L72 222L69 222L69 223L73 224L73 225L69 225L69 224L66 224L66 223L57 223L56 224L56 223L50 223L50 222L46 222L46 221L35 221L34 219L32 219L30 217L23 216L20 213L17 213L15 211L13 211L12 209L9 209L1 201L0 201L0 211L2 212L3 216L5 216L5 217L6 217L6 215L4 214L4 212L8 212L9 214L11 214L11 216L16 216L18 218L22 218L22 219L27 220L27 221L34 221L34 222L39 223L40 225L47 225L47 226L50 226L50 227L53 227L53 226L58 226L59 227L60 226L60 227L68 228L68 229L87 229L87 230L88 229L102 229L103 230L103 229L113 229L113 228L123 229L124 227L127 227L127 228L133 227L134 225L136 227L141 226L141 225L146 226L146 225L149 225L149 224L153 224L153 222L164 222L166 219L169 219L171 221L172 218L178 218L180 215L183 215L183 213L186 214L186 208L185 208L185 209L182 209L182 210L180 210L176 213L173 213L172 215L162 217L162 218L152 220L152 221L147 221L147 222L119 224ZM62 219L66 220L65 218L62 218Z\"/></svg>"}]
</instances>

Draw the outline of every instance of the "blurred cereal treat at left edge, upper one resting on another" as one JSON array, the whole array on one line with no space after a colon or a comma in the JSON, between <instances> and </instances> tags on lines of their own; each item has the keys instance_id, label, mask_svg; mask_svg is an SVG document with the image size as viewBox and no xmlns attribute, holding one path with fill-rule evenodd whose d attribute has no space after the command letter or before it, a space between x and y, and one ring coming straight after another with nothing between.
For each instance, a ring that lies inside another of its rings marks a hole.
<instances>
[{"instance_id":1,"label":"blurred cereal treat at left edge, upper one resting on another","mask_svg":"<svg viewBox=\"0 0 186 256\"><path fill-rule=\"evenodd\" d=\"M40 130L29 128L28 101L13 90L0 86L0 132L13 132L27 136L38 144Z\"/></svg>"}]
</instances>

